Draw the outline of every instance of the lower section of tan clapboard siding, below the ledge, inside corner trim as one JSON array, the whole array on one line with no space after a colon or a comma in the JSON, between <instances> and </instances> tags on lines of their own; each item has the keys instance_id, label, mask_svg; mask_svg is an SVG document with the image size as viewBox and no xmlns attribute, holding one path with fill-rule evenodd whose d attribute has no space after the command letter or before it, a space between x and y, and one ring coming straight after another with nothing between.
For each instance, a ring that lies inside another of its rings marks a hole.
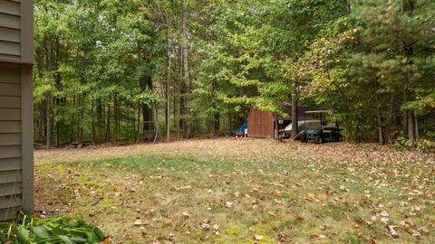
<instances>
[{"instance_id":1,"label":"lower section of tan clapboard siding, below the ledge, inside corner trim","mask_svg":"<svg viewBox=\"0 0 435 244\"><path fill-rule=\"evenodd\" d=\"M22 205L21 68L0 63L0 221Z\"/></svg>"}]
</instances>

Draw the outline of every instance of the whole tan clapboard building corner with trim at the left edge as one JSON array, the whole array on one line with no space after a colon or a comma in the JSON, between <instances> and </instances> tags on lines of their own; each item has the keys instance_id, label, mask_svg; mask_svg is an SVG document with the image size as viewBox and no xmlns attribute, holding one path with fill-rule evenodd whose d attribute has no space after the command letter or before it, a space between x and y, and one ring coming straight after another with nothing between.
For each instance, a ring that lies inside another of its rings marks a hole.
<instances>
[{"instance_id":1,"label":"whole tan clapboard building corner with trim at the left edge","mask_svg":"<svg viewBox=\"0 0 435 244\"><path fill-rule=\"evenodd\" d=\"M0 221L34 212L33 7L0 0Z\"/></svg>"}]
</instances>

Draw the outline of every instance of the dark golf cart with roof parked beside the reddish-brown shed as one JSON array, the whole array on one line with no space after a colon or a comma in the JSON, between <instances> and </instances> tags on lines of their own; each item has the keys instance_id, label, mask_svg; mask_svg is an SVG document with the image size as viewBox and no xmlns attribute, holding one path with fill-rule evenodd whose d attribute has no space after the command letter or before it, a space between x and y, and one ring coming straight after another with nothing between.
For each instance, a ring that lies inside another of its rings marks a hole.
<instances>
[{"instance_id":1,"label":"dark golf cart with roof parked beside the reddish-brown shed","mask_svg":"<svg viewBox=\"0 0 435 244\"><path fill-rule=\"evenodd\" d=\"M309 127L304 128L304 134L302 135L301 142L314 141L315 144L322 144L324 142L339 142L341 135L341 128L338 126L337 121L335 123L327 122L326 118L328 114L331 114L329 110L317 110L306 111L305 117L310 115L317 118L318 121L315 125L311 124Z\"/></svg>"}]
</instances>

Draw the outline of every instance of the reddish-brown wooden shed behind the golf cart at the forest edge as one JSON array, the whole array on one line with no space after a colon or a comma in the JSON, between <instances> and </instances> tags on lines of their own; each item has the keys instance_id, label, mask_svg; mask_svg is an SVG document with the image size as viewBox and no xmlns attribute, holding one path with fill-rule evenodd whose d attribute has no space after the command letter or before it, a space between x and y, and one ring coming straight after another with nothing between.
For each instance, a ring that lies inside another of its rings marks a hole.
<instances>
[{"instance_id":1,"label":"reddish-brown wooden shed behind the golf cart at the forest edge","mask_svg":"<svg viewBox=\"0 0 435 244\"><path fill-rule=\"evenodd\" d=\"M275 123L275 115L272 113L252 107L247 117L247 135L250 137L275 138L275 124L278 124L277 130L280 130L292 122L292 107L288 105L283 105L283 107L288 117L276 117L278 123ZM304 113L308 110L308 107L297 107L299 120L304 119Z\"/></svg>"}]
</instances>

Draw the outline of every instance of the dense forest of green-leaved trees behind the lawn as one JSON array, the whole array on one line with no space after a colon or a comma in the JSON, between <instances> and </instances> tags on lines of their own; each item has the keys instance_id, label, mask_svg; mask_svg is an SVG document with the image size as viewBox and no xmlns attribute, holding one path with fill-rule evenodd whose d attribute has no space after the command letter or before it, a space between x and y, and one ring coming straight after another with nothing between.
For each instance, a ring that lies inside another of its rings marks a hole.
<instances>
[{"instance_id":1,"label":"dense forest of green-leaved trees behind the lawn","mask_svg":"<svg viewBox=\"0 0 435 244\"><path fill-rule=\"evenodd\" d=\"M35 0L48 146L191 138L281 101L355 141L435 136L433 0Z\"/></svg>"}]
</instances>

